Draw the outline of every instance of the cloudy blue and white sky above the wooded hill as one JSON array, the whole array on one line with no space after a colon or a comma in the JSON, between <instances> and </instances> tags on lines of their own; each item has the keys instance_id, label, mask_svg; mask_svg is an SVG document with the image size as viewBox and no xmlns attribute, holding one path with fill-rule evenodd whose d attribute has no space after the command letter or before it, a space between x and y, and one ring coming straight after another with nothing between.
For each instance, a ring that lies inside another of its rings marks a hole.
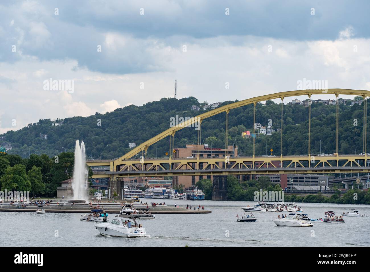
<instances>
[{"instance_id":1,"label":"cloudy blue and white sky above the wooded hill","mask_svg":"<svg viewBox=\"0 0 370 272\"><path fill-rule=\"evenodd\" d=\"M2 1L0 133L173 97L175 78L179 98L210 103L303 78L369 90L369 10L365 0Z\"/></svg>"}]
</instances>

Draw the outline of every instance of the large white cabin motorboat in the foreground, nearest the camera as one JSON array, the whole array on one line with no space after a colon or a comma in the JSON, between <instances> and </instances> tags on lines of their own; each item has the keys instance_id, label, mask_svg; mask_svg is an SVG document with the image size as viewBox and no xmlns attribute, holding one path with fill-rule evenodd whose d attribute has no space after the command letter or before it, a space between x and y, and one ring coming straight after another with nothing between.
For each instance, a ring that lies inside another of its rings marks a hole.
<instances>
[{"instance_id":1,"label":"large white cabin motorboat in the foreground, nearest the camera","mask_svg":"<svg viewBox=\"0 0 370 272\"><path fill-rule=\"evenodd\" d=\"M139 219L138 219L139 220ZM118 237L150 237L137 219L131 215L116 215L114 219L107 223L94 222L95 228L103 236L118 236Z\"/></svg>"}]
</instances>

